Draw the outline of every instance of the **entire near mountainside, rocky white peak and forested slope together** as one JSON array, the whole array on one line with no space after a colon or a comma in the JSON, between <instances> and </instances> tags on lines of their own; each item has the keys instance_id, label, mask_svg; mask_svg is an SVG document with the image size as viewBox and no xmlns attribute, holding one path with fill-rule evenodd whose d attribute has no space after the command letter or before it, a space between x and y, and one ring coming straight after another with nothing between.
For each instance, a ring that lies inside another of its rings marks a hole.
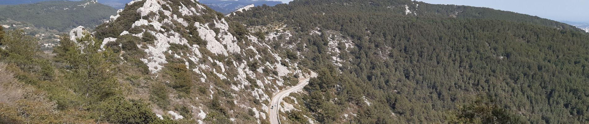
<instances>
[{"instance_id":1,"label":"entire near mountainside, rocky white peak and forested slope together","mask_svg":"<svg viewBox=\"0 0 589 124\"><path fill-rule=\"evenodd\" d=\"M0 123L589 120L589 33L537 16L408 0L230 16L197 0L125 5L59 36L53 56L0 32Z\"/></svg>"}]
</instances>

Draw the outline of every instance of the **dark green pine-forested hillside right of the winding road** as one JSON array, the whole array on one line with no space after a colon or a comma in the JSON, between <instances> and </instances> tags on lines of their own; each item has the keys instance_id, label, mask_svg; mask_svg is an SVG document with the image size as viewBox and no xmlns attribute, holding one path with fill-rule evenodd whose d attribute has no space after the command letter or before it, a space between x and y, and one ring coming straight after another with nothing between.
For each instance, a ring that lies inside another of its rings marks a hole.
<instances>
[{"instance_id":1,"label":"dark green pine-forested hillside right of the winding road","mask_svg":"<svg viewBox=\"0 0 589 124\"><path fill-rule=\"evenodd\" d=\"M230 18L319 73L299 109L321 123L589 122L589 35L560 22L353 0L293 1ZM283 116L306 123L296 111Z\"/></svg>"}]
</instances>

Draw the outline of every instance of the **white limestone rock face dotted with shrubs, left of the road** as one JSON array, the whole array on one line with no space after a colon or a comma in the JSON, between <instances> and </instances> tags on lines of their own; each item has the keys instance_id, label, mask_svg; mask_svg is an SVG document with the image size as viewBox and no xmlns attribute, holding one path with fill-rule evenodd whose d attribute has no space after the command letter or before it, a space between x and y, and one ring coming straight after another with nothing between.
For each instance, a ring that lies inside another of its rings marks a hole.
<instances>
[{"instance_id":1,"label":"white limestone rock face dotted with shrubs, left of the road","mask_svg":"<svg viewBox=\"0 0 589 124\"><path fill-rule=\"evenodd\" d=\"M297 80L293 75L306 75L296 62L266 45L266 39L258 39L249 31L236 33L235 26L241 24L231 24L234 22L194 0L135 0L117 13L92 33L100 38L102 48L121 51L124 60L140 60L154 78L170 64L185 65L194 81L209 88L206 92L210 97L182 103L194 105L191 111L196 112L194 117L184 119L203 122L209 110L203 102L229 91L236 108L253 110L259 123L269 108L253 101L269 101L285 84L296 85L291 83ZM78 30L70 35L80 36ZM130 55L137 52L144 56ZM160 115L172 114L166 111L155 110Z\"/></svg>"}]
</instances>

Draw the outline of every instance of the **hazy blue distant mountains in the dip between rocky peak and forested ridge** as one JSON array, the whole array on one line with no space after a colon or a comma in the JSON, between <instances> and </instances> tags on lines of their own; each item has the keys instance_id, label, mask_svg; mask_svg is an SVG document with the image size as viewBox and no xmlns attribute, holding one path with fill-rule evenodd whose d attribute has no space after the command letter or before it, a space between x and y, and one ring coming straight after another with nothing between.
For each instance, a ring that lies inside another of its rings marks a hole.
<instances>
[{"instance_id":1,"label":"hazy blue distant mountains in the dip between rocky peak and forested ridge","mask_svg":"<svg viewBox=\"0 0 589 124\"><path fill-rule=\"evenodd\" d=\"M209 6L211 9L214 9L216 11L219 11L223 14L229 14L231 12L236 11L237 9L243 8L244 6L247 5L254 5L254 6L260 6L260 5L269 5L269 6L274 6L276 4L282 4L282 2L280 1L266 1L266 0L258 0L258 1L252 1L252 0L238 0L238 1L222 1L222 0L200 0L198 1L201 4L205 4L207 6Z\"/></svg>"}]
</instances>

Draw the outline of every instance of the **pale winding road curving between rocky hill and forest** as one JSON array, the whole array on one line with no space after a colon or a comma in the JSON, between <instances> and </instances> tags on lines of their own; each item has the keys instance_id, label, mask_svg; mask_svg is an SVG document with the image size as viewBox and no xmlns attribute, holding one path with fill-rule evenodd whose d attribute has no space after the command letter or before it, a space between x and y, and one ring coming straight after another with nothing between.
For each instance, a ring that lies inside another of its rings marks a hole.
<instances>
[{"instance_id":1,"label":"pale winding road curving between rocky hill and forest","mask_svg":"<svg viewBox=\"0 0 589 124\"><path fill-rule=\"evenodd\" d=\"M276 95L272 96L272 100L270 101L270 108L272 108L272 106L274 106L273 109L270 109L270 123L272 124L280 124L280 119L279 119L279 110L280 110L280 102L282 102L282 98L289 96L290 93L292 92L296 92L299 91L300 89L305 88L305 85L309 84L309 80L313 77L317 77L317 73L315 72L311 72L311 75L305 79L300 79L299 80L299 84L296 86L293 86L292 88L286 89L284 91L281 91L279 93L276 93Z\"/></svg>"}]
</instances>

